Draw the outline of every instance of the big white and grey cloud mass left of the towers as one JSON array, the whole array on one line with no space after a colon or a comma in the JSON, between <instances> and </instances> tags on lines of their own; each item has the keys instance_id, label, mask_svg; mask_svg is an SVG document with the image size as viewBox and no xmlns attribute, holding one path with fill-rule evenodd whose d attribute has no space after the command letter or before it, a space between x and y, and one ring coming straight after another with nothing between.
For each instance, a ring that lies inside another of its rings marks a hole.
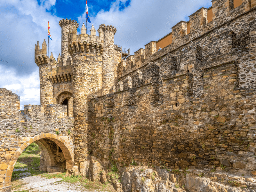
<instances>
[{"instance_id":1,"label":"big white and grey cloud mass left of the towers","mask_svg":"<svg viewBox=\"0 0 256 192\"><path fill-rule=\"evenodd\" d=\"M20 96L20 108L24 104L40 105L39 68L34 59L34 48L39 40L48 45L48 21L50 22L49 54L57 59L61 53L61 28L59 18L46 10L56 0L0 0L0 87Z\"/></svg>"}]
</instances>

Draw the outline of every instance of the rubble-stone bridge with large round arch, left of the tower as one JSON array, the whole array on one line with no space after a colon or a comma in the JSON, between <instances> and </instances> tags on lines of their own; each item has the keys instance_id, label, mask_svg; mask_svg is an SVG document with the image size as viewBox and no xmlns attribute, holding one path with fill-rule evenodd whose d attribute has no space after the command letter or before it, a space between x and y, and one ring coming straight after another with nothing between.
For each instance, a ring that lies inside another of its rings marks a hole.
<instances>
[{"instance_id":1,"label":"rubble-stone bridge with large round arch, left of the tower","mask_svg":"<svg viewBox=\"0 0 256 192\"><path fill-rule=\"evenodd\" d=\"M11 190L14 165L32 142L42 151L40 170L71 170L74 165L73 117L66 105L25 105L20 98L0 88L0 190Z\"/></svg>"}]
</instances>

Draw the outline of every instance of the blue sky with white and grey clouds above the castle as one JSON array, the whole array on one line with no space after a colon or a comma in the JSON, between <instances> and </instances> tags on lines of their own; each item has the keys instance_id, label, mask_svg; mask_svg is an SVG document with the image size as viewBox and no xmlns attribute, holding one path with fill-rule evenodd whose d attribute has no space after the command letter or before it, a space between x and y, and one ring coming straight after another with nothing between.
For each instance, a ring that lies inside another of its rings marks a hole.
<instances>
[{"instance_id":1,"label":"blue sky with white and grey clouds above the castle","mask_svg":"<svg viewBox=\"0 0 256 192\"><path fill-rule=\"evenodd\" d=\"M115 44L135 52L150 41L171 32L171 27L201 7L212 6L211 0L88 0L91 24L114 25ZM34 62L37 40L47 42L50 22L52 41L49 51L57 59L61 53L61 19L85 19L86 0L0 0L0 87L20 96L24 104L40 104L39 68Z\"/></svg>"}]
</instances>

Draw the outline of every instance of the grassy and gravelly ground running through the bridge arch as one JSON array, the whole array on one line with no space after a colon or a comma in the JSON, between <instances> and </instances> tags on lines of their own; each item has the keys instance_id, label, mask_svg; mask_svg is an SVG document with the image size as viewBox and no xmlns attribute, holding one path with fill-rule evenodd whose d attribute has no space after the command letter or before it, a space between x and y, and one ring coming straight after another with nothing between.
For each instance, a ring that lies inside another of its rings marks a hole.
<instances>
[{"instance_id":1,"label":"grassy and gravelly ground running through the bridge arch","mask_svg":"<svg viewBox=\"0 0 256 192\"><path fill-rule=\"evenodd\" d=\"M85 177L39 171L40 150L23 151L12 173L11 192L116 192L109 183L92 182Z\"/></svg>"}]
</instances>

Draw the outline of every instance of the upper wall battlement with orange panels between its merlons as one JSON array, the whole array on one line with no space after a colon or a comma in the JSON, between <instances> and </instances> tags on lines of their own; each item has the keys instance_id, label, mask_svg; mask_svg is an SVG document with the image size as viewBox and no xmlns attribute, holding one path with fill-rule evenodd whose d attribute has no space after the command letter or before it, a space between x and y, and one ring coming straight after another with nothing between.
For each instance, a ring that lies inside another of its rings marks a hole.
<instances>
[{"instance_id":1,"label":"upper wall battlement with orange panels between its merlons","mask_svg":"<svg viewBox=\"0 0 256 192\"><path fill-rule=\"evenodd\" d=\"M236 1L235 6L234 1ZM180 45L187 44L256 9L254 1L242 0L242 3L239 2L238 0L214 0L212 7L200 8L189 16L189 21L180 21L172 27L170 34L157 41L157 50L160 44L164 44L164 47L172 44L169 46L169 50L176 49Z\"/></svg>"}]
</instances>

